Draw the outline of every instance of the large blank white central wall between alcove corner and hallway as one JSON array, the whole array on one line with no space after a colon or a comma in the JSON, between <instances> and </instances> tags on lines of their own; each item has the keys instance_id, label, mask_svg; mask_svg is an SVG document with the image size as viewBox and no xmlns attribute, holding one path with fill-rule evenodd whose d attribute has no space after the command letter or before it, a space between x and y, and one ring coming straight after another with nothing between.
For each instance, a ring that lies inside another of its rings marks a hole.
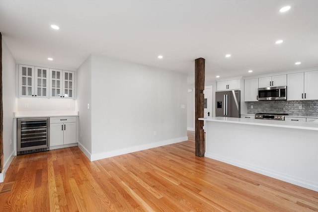
<instances>
[{"instance_id":1,"label":"large blank white central wall between alcove corner and hallway","mask_svg":"<svg viewBox=\"0 0 318 212\"><path fill-rule=\"evenodd\" d=\"M92 160L187 139L186 75L93 55L91 91Z\"/></svg>"}]
</instances>

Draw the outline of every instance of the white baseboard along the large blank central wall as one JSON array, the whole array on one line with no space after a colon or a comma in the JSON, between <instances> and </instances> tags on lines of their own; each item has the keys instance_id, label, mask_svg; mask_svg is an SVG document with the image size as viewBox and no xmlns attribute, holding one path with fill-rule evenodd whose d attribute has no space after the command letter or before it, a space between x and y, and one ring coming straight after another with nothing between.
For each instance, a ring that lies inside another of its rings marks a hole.
<instances>
[{"instance_id":1,"label":"white baseboard along the large blank central wall","mask_svg":"<svg viewBox=\"0 0 318 212\"><path fill-rule=\"evenodd\" d=\"M150 148L155 148L158 146L163 146L163 145L168 145L172 143L178 143L181 141L188 141L188 137L181 137L181 138L176 138L176 139L170 139L170 140L165 140L165 141L159 141L155 143L149 143L149 144L144 144L144 145L138 145L138 146L131 146L129 148L123 148L123 149L118 149L118 150L113 150L113 151L108 151L108 152L102 152L102 153L97 153L97 154L91 154L90 160L99 160L107 157L114 157L117 155L121 154L127 154L135 151L141 151L145 149L150 149Z\"/></svg>"}]
</instances>

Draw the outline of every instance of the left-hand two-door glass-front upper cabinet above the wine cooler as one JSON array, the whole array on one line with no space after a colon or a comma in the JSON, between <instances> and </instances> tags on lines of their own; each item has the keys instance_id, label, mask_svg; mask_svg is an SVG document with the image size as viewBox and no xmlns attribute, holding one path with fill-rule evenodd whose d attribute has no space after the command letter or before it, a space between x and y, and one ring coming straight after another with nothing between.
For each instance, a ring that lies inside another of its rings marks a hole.
<instances>
[{"instance_id":1,"label":"left-hand two-door glass-front upper cabinet above the wine cooler","mask_svg":"<svg viewBox=\"0 0 318 212\"><path fill-rule=\"evenodd\" d=\"M48 97L49 69L19 65L19 97Z\"/></svg>"}]
</instances>

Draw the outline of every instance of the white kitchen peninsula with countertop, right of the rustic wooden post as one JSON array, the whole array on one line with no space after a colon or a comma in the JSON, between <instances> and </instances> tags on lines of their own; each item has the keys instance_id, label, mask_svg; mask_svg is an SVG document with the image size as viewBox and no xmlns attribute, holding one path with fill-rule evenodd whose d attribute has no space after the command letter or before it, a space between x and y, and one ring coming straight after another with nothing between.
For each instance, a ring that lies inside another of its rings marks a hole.
<instances>
[{"instance_id":1,"label":"white kitchen peninsula with countertop, right of the rustic wooden post","mask_svg":"<svg viewBox=\"0 0 318 212\"><path fill-rule=\"evenodd\" d=\"M318 123L206 121L205 156L318 191Z\"/></svg>"}]
</instances>

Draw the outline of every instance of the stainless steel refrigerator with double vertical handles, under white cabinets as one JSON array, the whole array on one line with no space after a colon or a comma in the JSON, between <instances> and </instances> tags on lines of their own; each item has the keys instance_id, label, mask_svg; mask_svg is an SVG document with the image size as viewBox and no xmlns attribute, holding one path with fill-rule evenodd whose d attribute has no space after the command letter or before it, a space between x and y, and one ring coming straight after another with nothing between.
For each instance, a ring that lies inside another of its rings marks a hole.
<instances>
[{"instance_id":1,"label":"stainless steel refrigerator with double vertical handles, under white cabinets","mask_svg":"<svg viewBox=\"0 0 318 212\"><path fill-rule=\"evenodd\" d=\"M215 101L216 116L240 118L240 90L216 92Z\"/></svg>"}]
</instances>

